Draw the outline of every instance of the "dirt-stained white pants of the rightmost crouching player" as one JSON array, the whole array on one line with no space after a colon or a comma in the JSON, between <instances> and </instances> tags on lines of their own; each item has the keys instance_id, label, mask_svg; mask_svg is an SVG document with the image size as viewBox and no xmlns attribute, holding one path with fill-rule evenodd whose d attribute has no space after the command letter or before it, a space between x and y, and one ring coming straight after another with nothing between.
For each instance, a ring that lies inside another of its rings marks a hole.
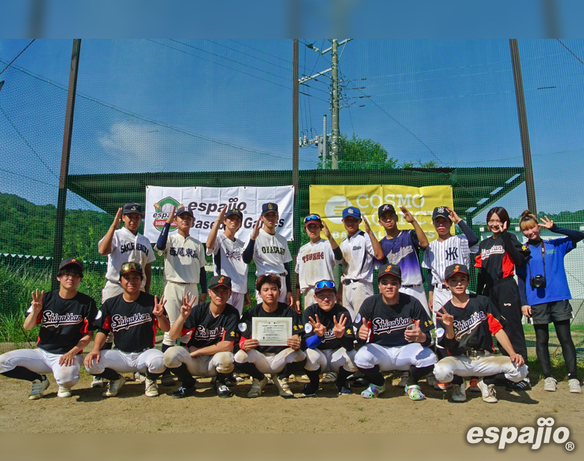
<instances>
[{"instance_id":1,"label":"dirt-stained white pants of the rightmost crouching player","mask_svg":"<svg viewBox=\"0 0 584 461\"><path fill-rule=\"evenodd\" d=\"M477 357L449 356L434 366L434 376L440 383L451 382L455 375L481 377L499 373L504 373L507 379L519 383L525 379L527 372L527 365L517 367L510 358L491 354Z\"/></svg>"}]
</instances>

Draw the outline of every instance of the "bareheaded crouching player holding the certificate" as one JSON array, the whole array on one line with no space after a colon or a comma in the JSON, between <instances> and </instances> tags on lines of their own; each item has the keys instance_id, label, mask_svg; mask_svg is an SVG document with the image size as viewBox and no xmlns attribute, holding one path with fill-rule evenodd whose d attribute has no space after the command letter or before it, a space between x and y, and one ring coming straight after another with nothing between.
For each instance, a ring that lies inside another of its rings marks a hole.
<instances>
[{"instance_id":1,"label":"bareheaded crouching player holding the certificate","mask_svg":"<svg viewBox=\"0 0 584 461\"><path fill-rule=\"evenodd\" d=\"M282 282L277 275L266 274L258 277L255 289L262 302L243 313L239 324L241 349L235 354L235 366L252 377L248 397L261 395L268 382L266 374L271 375L282 397L294 397L288 383L289 376L299 372L306 363L306 355L300 350L302 343L300 337L304 333L302 320L293 308L278 302L280 288ZM257 339L252 339L252 319L255 317L291 318L292 329L289 333L290 338L286 340L286 346L262 346Z\"/></svg>"}]
</instances>

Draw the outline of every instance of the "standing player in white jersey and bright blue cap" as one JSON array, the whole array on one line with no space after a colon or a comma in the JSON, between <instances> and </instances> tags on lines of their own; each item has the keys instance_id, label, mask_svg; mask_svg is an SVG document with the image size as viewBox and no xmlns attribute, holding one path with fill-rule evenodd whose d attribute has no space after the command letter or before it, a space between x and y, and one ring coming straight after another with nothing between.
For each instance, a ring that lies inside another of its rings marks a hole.
<instances>
[{"instance_id":1,"label":"standing player in white jersey and bright blue cap","mask_svg":"<svg viewBox=\"0 0 584 461\"><path fill-rule=\"evenodd\" d=\"M361 221L365 232L359 230ZM343 225L347 237L341 242L343 252L343 306L353 320L363 301L373 295L373 267L376 261L384 259L384 250L366 218L361 218L361 210L348 207L343 210Z\"/></svg>"}]
</instances>

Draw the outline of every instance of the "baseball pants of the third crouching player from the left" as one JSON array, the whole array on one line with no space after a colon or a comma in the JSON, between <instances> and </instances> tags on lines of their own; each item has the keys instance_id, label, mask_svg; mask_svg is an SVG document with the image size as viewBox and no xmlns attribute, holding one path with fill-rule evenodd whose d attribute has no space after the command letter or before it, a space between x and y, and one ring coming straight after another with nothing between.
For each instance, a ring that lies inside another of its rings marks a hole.
<instances>
[{"instance_id":1,"label":"baseball pants of the third crouching player from the left","mask_svg":"<svg viewBox=\"0 0 584 461\"><path fill-rule=\"evenodd\" d=\"M233 371L233 354L218 352L212 356L191 357L189 350L182 346L173 346L164 352L164 365L168 368L178 368L187 365L191 376L217 376Z\"/></svg>"}]
</instances>

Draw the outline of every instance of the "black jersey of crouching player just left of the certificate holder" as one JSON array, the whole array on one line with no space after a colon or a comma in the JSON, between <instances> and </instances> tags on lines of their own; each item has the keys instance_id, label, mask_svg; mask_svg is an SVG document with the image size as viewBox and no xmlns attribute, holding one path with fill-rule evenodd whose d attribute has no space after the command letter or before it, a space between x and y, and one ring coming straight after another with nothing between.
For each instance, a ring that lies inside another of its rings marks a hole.
<instances>
[{"instance_id":1,"label":"black jersey of crouching player just left of the certificate holder","mask_svg":"<svg viewBox=\"0 0 584 461\"><path fill-rule=\"evenodd\" d=\"M212 346L221 341L239 341L237 322L239 312L231 304L227 304L223 312L213 317L210 302L197 304L193 307L191 315L184 320L181 336L192 331L188 346L201 347Z\"/></svg>"}]
</instances>

